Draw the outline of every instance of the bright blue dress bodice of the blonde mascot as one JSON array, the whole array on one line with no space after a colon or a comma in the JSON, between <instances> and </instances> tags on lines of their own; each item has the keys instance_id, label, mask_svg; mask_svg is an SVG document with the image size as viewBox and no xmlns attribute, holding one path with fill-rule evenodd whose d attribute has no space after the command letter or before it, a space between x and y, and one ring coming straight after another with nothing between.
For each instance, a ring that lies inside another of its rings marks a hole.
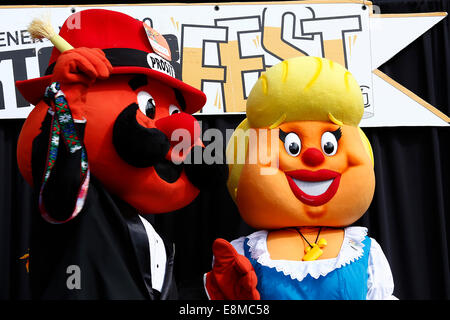
<instances>
[{"instance_id":1,"label":"bright blue dress bodice of the blonde mascot","mask_svg":"<svg viewBox=\"0 0 450 320\"><path fill-rule=\"evenodd\" d=\"M248 238L244 253L258 277L257 289L262 300L365 300L371 238L365 236L363 255L317 279L306 275L301 281L275 268L262 265L251 257Z\"/></svg>"}]
</instances>

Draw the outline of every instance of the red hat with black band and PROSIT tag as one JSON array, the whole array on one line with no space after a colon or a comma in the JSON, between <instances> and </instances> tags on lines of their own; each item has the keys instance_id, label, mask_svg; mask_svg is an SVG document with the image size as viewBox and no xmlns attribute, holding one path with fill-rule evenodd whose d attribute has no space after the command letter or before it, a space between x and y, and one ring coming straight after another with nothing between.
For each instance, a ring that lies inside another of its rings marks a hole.
<instances>
[{"instance_id":1,"label":"red hat with black band and PROSIT tag","mask_svg":"<svg viewBox=\"0 0 450 320\"><path fill-rule=\"evenodd\" d=\"M70 16L59 32L74 48L102 49L113 66L112 74L145 74L180 90L187 113L192 114L203 107L205 94L175 78L170 61L157 55L150 45L143 22L104 9L88 9L75 14L79 16ZM59 50L53 48L45 76L16 82L20 93L31 104L36 105L43 98L59 55Z\"/></svg>"}]
</instances>

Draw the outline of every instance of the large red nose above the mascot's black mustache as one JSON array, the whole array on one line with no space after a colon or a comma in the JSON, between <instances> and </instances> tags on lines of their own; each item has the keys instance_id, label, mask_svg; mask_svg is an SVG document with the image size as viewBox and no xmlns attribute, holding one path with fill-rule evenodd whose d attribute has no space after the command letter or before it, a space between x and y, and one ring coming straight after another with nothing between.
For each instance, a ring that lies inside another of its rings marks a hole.
<instances>
[{"instance_id":1,"label":"large red nose above the mascot's black mustache","mask_svg":"<svg viewBox=\"0 0 450 320\"><path fill-rule=\"evenodd\" d=\"M184 112L158 119L155 122L155 126L164 132L172 146L176 145L181 139L188 138L190 138L191 145L193 145L194 141L198 140L201 134L200 124L197 119Z\"/></svg>"}]
</instances>

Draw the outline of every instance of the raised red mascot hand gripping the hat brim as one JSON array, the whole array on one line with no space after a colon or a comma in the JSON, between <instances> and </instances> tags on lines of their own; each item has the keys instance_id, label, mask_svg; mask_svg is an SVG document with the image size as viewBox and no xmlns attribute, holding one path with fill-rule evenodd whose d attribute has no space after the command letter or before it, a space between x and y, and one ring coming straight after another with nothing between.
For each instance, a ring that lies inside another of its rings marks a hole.
<instances>
[{"instance_id":1,"label":"raised red mascot hand gripping the hat brim","mask_svg":"<svg viewBox=\"0 0 450 320\"><path fill-rule=\"evenodd\" d=\"M97 79L107 79L111 63L98 48L75 48L64 51L56 60L52 82L58 81L74 119L84 119L84 103L90 85Z\"/></svg>"}]
</instances>

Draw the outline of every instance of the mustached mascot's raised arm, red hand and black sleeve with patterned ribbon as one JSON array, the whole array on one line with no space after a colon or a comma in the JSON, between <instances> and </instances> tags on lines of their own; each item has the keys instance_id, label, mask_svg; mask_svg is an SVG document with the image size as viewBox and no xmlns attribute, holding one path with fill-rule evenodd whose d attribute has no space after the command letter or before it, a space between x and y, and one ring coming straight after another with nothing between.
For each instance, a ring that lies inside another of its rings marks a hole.
<instances>
[{"instance_id":1,"label":"mustached mascot's raised arm, red hand and black sleeve with patterned ribbon","mask_svg":"<svg viewBox=\"0 0 450 320\"><path fill-rule=\"evenodd\" d=\"M55 64L52 82L57 82L61 91L55 89L51 98L47 97L49 113L32 149L33 183L40 191L41 214L49 222L66 222L83 207L89 183L83 105L89 86L97 78L108 77L111 70L99 49L65 51ZM56 111L61 102L67 102L66 108Z\"/></svg>"}]
</instances>

